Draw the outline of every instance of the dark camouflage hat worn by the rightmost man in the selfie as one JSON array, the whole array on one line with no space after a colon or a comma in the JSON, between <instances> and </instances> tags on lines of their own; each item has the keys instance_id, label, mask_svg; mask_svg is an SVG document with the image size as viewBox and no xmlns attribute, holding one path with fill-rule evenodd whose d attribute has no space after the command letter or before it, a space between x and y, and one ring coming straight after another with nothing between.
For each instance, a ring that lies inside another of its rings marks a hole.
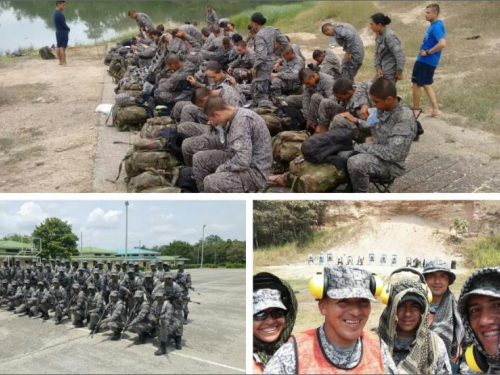
<instances>
[{"instance_id":1,"label":"dark camouflage hat worn by the rightmost man in the selfie","mask_svg":"<svg viewBox=\"0 0 500 375\"><path fill-rule=\"evenodd\" d=\"M488 267L474 272L462 287L458 300L458 312L467 316L467 302L472 295L500 298L500 267Z\"/></svg>"}]
</instances>

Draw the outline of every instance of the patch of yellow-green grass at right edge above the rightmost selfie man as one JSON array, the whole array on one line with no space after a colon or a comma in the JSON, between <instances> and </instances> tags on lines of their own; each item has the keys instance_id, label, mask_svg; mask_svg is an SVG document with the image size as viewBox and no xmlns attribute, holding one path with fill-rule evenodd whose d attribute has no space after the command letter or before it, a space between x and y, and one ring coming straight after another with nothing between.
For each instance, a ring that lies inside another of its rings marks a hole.
<instances>
[{"instance_id":1,"label":"patch of yellow-green grass at right edge above the rightmost selfie man","mask_svg":"<svg viewBox=\"0 0 500 375\"><path fill-rule=\"evenodd\" d=\"M500 236L478 238L462 247L462 253L473 268L497 267L500 264Z\"/></svg>"}]
</instances>

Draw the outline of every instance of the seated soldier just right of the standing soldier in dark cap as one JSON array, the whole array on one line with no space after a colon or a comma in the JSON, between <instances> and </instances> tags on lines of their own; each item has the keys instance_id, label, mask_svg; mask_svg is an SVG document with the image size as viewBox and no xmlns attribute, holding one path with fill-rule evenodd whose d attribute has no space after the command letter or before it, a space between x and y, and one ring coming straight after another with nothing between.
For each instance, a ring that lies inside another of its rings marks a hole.
<instances>
[{"instance_id":1,"label":"seated soldier just right of the standing soldier in dark cap","mask_svg":"<svg viewBox=\"0 0 500 375\"><path fill-rule=\"evenodd\" d=\"M285 47L282 63L277 73L271 73L271 94L275 97L294 94L300 89L299 72L304 61L295 55L292 46Z\"/></svg>"}]
</instances>

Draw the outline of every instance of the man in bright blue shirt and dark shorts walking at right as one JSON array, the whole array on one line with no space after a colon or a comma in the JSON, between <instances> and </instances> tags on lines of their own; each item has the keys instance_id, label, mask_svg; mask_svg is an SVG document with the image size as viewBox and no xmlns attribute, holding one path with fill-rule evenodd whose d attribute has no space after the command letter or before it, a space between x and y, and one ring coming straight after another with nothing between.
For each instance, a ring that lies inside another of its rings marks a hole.
<instances>
[{"instance_id":1,"label":"man in bright blue shirt and dark shorts walking at right","mask_svg":"<svg viewBox=\"0 0 500 375\"><path fill-rule=\"evenodd\" d=\"M431 23L431 26L427 29L422 47L420 47L420 54L413 66L411 77L413 83L413 108L420 109L420 97L423 87L432 105L430 116L434 117L439 116L441 111L431 85L434 82L434 71L441 59L442 50L446 47L444 23L439 19L438 4L431 4L425 8L425 19Z\"/></svg>"}]
</instances>

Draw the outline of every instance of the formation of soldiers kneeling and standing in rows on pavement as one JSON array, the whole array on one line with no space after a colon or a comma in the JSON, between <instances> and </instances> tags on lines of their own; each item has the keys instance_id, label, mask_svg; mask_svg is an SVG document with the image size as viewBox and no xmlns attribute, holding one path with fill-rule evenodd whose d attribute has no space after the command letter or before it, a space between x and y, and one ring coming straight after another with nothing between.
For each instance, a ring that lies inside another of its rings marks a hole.
<instances>
[{"instance_id":1,"label":"formation of soldiers kneeling and standing in rows on pavement","mask_svg":"<svg viewBox=\"0 0 500 375\"><path fill-rule=\"evenodd\" d=\"M70 260L59 258L50 264L27 261L21 266L3 261L0 267L0 308L13 314L24 314L55 325L71 320L75 328L86 327L89 336L109 329L111 340L122 338L125 331L136 333L135 345L158 337L155 355L166 353L173 342L182 349L184 325L189 315L189 292L195 291L184 263L177 271L168 262L151 262L151 271L143 273L137 262ZM129 266L131 266L129 268ZM161 271L157 270L161 268ZM199 295L199 293L197 293ZM199 302L193 302L199 304ZM53 312L53 315L51 314Z\"/></svg>"}]
</instances>

